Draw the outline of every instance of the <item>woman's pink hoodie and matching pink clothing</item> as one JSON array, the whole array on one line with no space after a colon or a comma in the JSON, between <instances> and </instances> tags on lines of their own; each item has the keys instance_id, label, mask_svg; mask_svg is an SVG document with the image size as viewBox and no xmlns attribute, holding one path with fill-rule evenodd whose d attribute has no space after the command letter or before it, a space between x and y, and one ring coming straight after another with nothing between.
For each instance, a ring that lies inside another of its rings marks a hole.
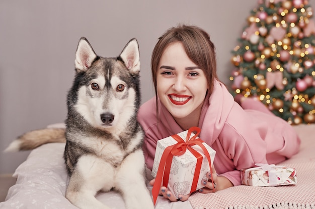
<instances>
[{"instance_id":1,"label":"woman's pink hoodie and matching pink clothing","mask_svg":"<svg viewBox=\"0 0 315 209\"><path fill-rule=\"evenodd\" d=\"M155 97L139 109L138 121L145 132L145 162L152 169L156 142L182 132L172 115ZM242 109L242 107L244 109ZM219 81L202 107L199 137L216 151L216 172L233 185L241 184L240 169L255 163L279 163L298 152L300 139L283 119L273 115L260 101L247 99L242 107Z\"/></svg>"}]
</instances>

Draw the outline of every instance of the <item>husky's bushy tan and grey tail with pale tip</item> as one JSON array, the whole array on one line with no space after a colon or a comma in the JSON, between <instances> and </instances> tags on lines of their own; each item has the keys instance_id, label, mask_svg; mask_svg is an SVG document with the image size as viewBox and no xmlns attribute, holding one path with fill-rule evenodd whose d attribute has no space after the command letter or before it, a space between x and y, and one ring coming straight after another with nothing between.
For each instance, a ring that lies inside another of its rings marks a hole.
<instances>
[{"instance_id":1,"label":"husky's bushy tan and grey tail with pale tip","mask_svg":"<svg viewBox=\"0 0 315 209\"><path fill-rule=\"evenodd\" d=\"M45 128L26 132L11 142L5 152L34 149L52 142L65 142L64 128Z\"/></svg>"}]
</instances>

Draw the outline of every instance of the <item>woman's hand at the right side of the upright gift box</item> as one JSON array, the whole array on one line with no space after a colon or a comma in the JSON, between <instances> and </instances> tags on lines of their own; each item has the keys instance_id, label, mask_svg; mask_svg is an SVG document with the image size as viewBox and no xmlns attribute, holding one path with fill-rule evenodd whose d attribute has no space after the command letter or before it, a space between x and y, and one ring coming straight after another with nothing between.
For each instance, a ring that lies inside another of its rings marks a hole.
<instances>
[{"instance_id":1,"label":"woman's hand at the right side of the upright gift box","mask_svg":"<svg viewBox=\"0 0 315 209\"><path fill-rule=\"evenodd\" d=\"M211 173L208 172L207 176L209 177L209 180L202 180L202 184L205 186L201 189L199 189L199 192L201 193L211 193L218 190L222 190L228 187L233 186L233 184L224 176L217 176L216 171L214 169L214 166L212 165L212 179L213 179L213 185L211 181Z\"/></svg>"}]
</instances>

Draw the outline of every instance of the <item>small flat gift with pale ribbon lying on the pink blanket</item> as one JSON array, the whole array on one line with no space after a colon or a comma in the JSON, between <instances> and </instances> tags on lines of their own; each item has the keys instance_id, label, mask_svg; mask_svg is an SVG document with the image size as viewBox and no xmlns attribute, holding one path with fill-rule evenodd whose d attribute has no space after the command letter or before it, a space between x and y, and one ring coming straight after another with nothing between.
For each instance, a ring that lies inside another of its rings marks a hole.
<instances>
[{"instance_id":1,"label":"small flat gift with pale ribbon lying on the pink blanket","mask_svg":"<svg viewBox=\"0 0 315 209\"><path fill-rule=\"evenodd\" d=\"M249 186L281 186L296 184L295 168L256 164L259 167L241 170L242 184Z\"/></svg>"}]
</instances>

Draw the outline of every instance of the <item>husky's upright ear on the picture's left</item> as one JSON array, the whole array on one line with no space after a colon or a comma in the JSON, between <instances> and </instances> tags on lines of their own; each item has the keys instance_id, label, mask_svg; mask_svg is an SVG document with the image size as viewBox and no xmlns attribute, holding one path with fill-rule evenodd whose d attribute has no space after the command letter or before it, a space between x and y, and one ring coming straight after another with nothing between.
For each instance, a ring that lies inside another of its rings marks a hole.
<instances>
[{"instance_id":1,"label":"husky's upright ear on the picture's left","mask_svg":"<svg viewBox=\"0 0 315 209\"><path fill-rule=\"evenodd\" d=\"M95 54L91 44L85 37L82 37L77 44L75 52L75 70L77 72L89 69L95 60Z\"/></svg>"}]
</instances>

